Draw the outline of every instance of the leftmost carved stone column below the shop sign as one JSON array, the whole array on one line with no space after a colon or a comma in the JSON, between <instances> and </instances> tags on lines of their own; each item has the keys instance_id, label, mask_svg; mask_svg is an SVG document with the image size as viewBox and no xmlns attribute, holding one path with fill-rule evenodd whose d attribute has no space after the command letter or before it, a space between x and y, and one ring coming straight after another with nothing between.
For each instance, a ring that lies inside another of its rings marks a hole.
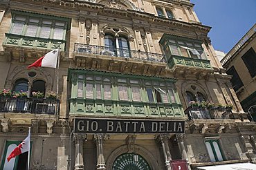
<instances>
[{"instance_id":1,"label":"leftmost carved stone column below the shop sign","mask_svg":"<svg viewBox=\"0 0 256 170\"><path fill-rule=\"evenodd\" d=\"M86 135L73 135L75 142L75 170L84 170L83 144L85 139Z\"/></svg>"}]
</instances>

